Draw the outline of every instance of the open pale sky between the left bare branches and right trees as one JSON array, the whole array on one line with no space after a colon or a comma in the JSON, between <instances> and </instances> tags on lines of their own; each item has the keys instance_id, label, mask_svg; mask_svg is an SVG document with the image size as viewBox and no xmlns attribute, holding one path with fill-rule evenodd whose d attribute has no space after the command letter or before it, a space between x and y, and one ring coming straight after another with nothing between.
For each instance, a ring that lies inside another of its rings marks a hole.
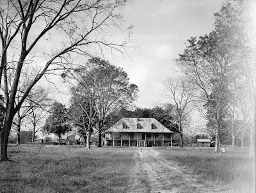
<instances>
[{"instance_id":1,"label":"open pale sky between the left bare branches and right trees","mask_svg":"<svg viewBox=\"0 0 256 193\"><path fill-rule=\"evenodd\" d=\"M152 108L164 101L164 80L175 77L175 63L191 36L201 36L213 28L213 13L224 1L216 0L131 0L123 13L127 26L134 26L137 52L130 60L109 59L122 66L130 81L140 89L136 105ZM177 69L177 67L176 67Z\"/></svg>"}]
</instances>

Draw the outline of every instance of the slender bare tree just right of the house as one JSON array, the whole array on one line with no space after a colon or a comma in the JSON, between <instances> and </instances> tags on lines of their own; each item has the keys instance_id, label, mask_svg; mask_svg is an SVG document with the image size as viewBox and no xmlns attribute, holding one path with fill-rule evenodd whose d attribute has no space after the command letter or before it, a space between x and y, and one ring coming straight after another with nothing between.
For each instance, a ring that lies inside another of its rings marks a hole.
<instances>
[{"instance_id":1,"label":"slender bare tree just right of the house","mask_svg":"<svg viewBox=\"0 0 256 193\"><path fill-rule=\"evenodd\" d=\"M195 86L184 77L175 79L168 78L166 80L166 88L164 90L166 98L170 103L174 104L173 120L178 125L180 134L180 148L183 148L183 127L188 123L188 117L193 109L192 103L195 98Z\"/></svg>"}]
</instances>

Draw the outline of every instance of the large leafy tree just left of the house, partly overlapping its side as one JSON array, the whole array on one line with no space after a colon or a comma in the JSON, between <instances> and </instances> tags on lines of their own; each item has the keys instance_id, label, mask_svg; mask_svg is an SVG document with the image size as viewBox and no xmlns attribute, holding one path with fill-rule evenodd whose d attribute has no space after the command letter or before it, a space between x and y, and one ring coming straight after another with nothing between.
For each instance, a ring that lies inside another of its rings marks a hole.
<instances>
[{"instance_id":1,"label":"large leafy tree just left of the house, partly overlapping its side","mask_svg":"<svg viewBox=\"0 0 256 193\"><path fill-rule=\"evenodd\" d=\"M97 113L93 118L97 120L98 146L101 147L107 116L131 105L137 97L138 87L129 82L122 68L100 58L89 59L85 68L76 69L73 78L81 84L80 91L86 95L92 112Z\"/></svg>"}]
</instances>

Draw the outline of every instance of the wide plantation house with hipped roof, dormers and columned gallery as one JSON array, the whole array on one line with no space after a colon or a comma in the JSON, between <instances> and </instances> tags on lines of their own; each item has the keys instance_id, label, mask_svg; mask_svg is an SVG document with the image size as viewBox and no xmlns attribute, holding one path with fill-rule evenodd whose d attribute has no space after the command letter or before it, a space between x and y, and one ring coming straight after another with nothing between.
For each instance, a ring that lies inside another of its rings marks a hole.
<instances>
[{"instance_id":1,"label":"wide plantation house with hipped roof, dormers and columned gallery","mask_svg":"<svg viewBox=\"0 0 256 193\"><path fill-rule=\"evenodd\" d=\"M154 118L122 118L104 133L109 146L172 146L173 132Z\"/></svg>"}]
</instances>

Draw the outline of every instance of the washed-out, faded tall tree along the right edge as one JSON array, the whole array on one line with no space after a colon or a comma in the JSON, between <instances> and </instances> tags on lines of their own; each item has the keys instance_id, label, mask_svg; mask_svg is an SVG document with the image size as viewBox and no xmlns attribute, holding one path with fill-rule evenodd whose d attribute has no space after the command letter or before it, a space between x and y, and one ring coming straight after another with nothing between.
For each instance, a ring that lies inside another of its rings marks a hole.
<instances>
[{"instance_id":1,"label":"washed-out, faded tall tree along the right edge","mask_svg":"<svg viewBox=\"0 0 256 193\"><path fill-rule=\"evenodd\" d=\"M230 50L239 96L234 103L243 112L250 128L250 157L255 156L256 119L256 22L255 1L228 1L214 14L215 30L223 35L222 42ZM234 95L235 93L232 93Z\"/></svg>"}]
</instances>

